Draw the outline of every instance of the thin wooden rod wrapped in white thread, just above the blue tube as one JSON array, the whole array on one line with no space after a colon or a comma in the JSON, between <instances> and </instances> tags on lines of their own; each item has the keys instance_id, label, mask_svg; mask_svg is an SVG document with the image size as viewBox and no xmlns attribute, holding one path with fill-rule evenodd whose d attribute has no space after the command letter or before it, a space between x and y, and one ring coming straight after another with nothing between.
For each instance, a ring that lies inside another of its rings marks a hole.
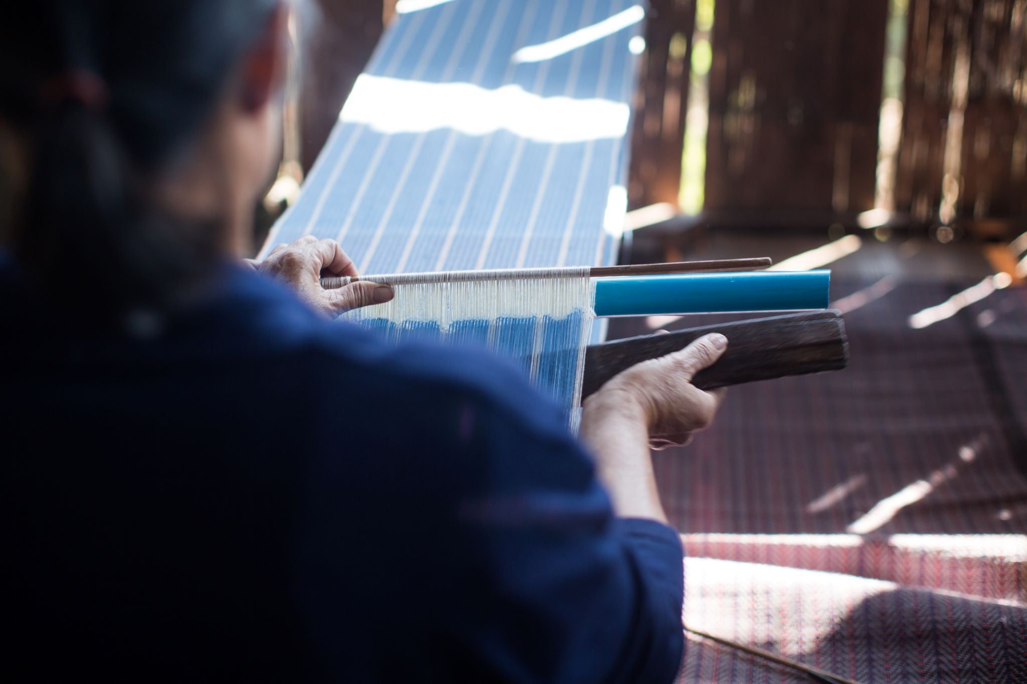
<instances>
[{"instance_id":1,"label":"thin wooden rod wrapped in white thread, just above the blue tube","mask_svg":"<svg viewBox=\"0 0 1027 684\"><path fill-rule=\"evenodd\" d=\"M767 256L758 258L727 258L709 261L674 261L671 264L631 264L627 266L599 266L588 269L592 278L616 276L654 276L673 273L701 273L712 271L758 271L772 264ZM554 278L570 276L576 269L497 269L487 271L449 271L438 273L400 273L364 275L353 277L321 278L321 287L336 289L358 280L393 285L414 285L448 281L515 280L518 278Z\"/></svg>"}]
</instances>

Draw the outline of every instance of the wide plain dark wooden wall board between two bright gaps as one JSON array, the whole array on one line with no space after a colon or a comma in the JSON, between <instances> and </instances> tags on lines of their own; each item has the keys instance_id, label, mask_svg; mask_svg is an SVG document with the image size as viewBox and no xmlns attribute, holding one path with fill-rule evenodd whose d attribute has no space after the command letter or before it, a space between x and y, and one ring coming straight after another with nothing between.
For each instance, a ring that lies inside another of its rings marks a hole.
<instances>
[{"instance_id":1,"label":"wide plain dark wooden wall board between two bright gaps","mask_svg":"<svg viewBox=\"0 0 1027 684\"><path fill-rule=\"evenodd\" d=\"M887 0L718 0L709 209L873 208Z\"/></svg>"}]
</instances>

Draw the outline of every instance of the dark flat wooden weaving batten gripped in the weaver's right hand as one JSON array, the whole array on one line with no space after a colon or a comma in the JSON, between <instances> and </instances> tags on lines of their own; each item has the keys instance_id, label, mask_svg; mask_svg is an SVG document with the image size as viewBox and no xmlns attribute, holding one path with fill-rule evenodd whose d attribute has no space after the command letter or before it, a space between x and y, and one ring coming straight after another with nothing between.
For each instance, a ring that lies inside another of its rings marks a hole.
<instances>
[{"instance_id":1,"label":"dark flat wooden weaving batten gripped in the weaver's right hand","mask_svg":"<svg viewBox=\"0 0 1027 684\"><path fill-rule=\"evenodd\" d=\"M693 378L701 390L838 370L848 364L845 325L837 311L770 316L593 345L585 350L581 398L636 363L684 349L708 332L724 334L727 351Z\"/></svg>"}]
</instances>

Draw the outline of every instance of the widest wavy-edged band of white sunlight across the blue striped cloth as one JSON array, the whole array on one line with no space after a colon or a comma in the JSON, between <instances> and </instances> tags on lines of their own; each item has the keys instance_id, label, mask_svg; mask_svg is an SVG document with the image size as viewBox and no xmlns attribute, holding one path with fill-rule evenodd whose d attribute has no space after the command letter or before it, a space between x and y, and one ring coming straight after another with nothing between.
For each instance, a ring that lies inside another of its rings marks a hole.
<instances>
[{"instance_id":1,"label":"widest wavy-edged band of white sunlight across the blue striped cloth","mask_svg":"<svg viewBox=\"0 0 1027 684\"><path fill-rule=\"evenodd\" d=\"M541 143L583 143L622 137L630 114L623 103L542 97L519 85L490 90L362 74L339 118L383 133L486 135L502 129Z\"/></svg>"}]
</instances>

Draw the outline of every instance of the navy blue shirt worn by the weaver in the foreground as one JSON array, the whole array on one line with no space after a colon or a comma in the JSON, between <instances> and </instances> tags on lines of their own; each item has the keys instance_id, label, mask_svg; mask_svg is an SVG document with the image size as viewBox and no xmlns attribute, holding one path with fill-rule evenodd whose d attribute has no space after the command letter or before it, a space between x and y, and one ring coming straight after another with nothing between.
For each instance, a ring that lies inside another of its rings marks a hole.
<instances>
[{"instance_id":1,"label":"navy blue shirt worn by the weaver in the foreground","mask_svg":"<svg viewBox=\"0 0 1027 684\"><path fill-rule=\"evenodd\" d=\"M235 269L132 335L0 301L18 681L674 679L678 535L512 367Z\"/></svg>"}]
</instances>

